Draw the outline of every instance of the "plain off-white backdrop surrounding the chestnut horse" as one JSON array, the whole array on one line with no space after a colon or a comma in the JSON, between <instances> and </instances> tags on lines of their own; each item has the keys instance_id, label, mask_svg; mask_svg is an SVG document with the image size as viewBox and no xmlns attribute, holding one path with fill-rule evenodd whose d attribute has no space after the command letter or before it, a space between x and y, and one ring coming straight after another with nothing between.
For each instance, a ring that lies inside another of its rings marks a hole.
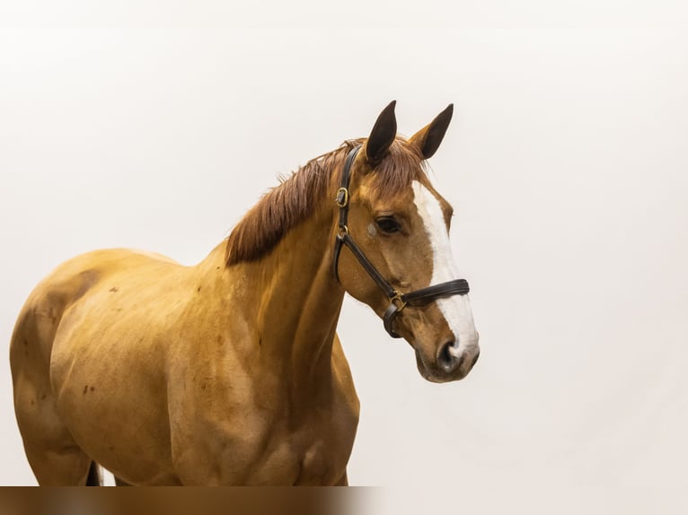
<instances>
[{"instance_id":1,"label":"plain off-white backdrop surrounding the chestnut horse","mask_svg":"<svg viewBox=\"0 0 688 515\"><path fill-rule=\"evenodd\" d=\"M429 384L348 299L351 484L389 513L685 507L683 2L1 5L0 340L66 258L194 264L390 100L405 135L454 102L431 175L481 361ZM0 484L35 484L0 379Z\"/></svg>"}]
</instances>

